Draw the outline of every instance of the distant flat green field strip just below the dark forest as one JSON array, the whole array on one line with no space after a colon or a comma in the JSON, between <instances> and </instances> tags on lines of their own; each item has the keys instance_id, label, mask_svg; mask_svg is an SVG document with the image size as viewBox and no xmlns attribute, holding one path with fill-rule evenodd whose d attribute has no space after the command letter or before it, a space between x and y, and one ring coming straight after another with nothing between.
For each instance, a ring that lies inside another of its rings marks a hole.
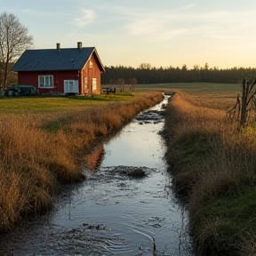
<instances>
[{"instance_id":1,"label":"distant flat green field strip just below the dark forest","mask_svg":"<svg viewBox=\"0 0 256 256\"><path fill-rule=\"evenodd\" d=\"M242 83L241 83L242 84ZM211 92L241 92L241 84L214 84L214 83L173 83L173 84L137 84L136 90L161 90L162 92L188 92L188 93L211 93Z\"/></svg>"}]
</instances>

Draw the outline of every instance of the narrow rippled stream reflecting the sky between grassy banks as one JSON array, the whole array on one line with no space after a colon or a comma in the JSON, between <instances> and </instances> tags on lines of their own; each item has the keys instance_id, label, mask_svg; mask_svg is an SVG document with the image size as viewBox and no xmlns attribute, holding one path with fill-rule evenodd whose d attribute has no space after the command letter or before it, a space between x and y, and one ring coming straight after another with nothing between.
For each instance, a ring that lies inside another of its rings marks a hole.
<instances>
[{"instance_id":1,"label":"narrow rippled stream reflecting the sky between grassy banks","mask_svg":"<svg viewBox=\"0 0 256 256\"><path fill-rule=\"evenodd\" d=\"M95 148L83 184L63 188L54 211L1 238L0 255L193 255L158 133L162 103Z\"/></svg>"}]
</instances>

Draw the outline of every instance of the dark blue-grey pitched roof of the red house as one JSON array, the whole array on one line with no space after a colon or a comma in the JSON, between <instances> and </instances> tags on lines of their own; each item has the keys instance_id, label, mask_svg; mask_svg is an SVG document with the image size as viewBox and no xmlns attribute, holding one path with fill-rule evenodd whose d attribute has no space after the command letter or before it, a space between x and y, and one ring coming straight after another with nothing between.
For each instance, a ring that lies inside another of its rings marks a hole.
<instances>
[{"instance_id":1,"label":"dark blue-grey pitched roof of the red house","mask_svg":"<svg viewBox=\"0 0 256 256\"><path fill-rule=\"evenodd\" d=\"M79 70L84 68L95 47L26 50L13 65L13 71ZM98 53L101 69L104 71Z\"/></svg>"}]
</instances>

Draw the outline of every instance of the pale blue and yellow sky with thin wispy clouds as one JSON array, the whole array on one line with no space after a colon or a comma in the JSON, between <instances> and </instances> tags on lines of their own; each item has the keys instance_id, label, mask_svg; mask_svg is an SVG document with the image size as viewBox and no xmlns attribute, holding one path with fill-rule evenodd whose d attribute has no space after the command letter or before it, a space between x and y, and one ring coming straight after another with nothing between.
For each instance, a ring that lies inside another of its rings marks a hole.
<instances>
[{"instance_id":1,"label":"pale blue and yellow sky with thin wispy clouds","mask_svg":"<svg viewBox=\"0 0 256 256\"><path fill-rule=\"evenodd\" d=\"M35 49L94 46L104 66L256 68L255 0L0 0Z\"/></svg>"}]
</instances>

